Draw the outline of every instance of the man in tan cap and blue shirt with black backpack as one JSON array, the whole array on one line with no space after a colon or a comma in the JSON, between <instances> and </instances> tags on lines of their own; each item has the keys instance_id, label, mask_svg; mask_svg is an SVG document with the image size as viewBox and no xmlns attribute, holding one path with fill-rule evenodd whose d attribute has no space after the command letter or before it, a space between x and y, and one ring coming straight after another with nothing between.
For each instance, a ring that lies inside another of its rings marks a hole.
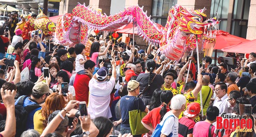
<instances>
[{"instance_id":1,"label":"man in tan cap and blue shirt with black backpack","mask_svg":"<svg viewBox=\"0 0 256 137\"><path fill-rule=\"evenodd\" d=\"M41 109L41 104L44 103L46 98L52 93L52 90L49 89L49 85L45 82L38 82L32 89L32 94L30 97L26 95L20 96L15 102L17 104L22 104L23 107L33 106L35 109L28 112L26 129L34 129L34 114L36 111Z\"/></svg>"}]
</instances>

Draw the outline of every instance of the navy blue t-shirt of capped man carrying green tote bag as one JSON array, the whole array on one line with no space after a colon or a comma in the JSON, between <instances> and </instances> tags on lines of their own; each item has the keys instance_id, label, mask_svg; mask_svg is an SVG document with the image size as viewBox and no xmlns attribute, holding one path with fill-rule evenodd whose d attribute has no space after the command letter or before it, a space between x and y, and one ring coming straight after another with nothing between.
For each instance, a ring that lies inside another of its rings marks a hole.
<instances>
[{"instance_id":1,"label":"navy blue t-shirt of capped man carrying green tote bag","mask_svg":"<svg viewBox=\"0 0 256 137\"><path fill-rule=\"evenodd\" d=\"M140 111L142 112L145 111L146 106L144 105L143 101L140 98L136 98L134 96L128 96L128 95L125 95L121 98L121 101L120 101L120 109L121 109L121 115L122 115L121 128L130 130L129 111L138 109L138 104L139 104Z\"/></svg>"}]
</instances>

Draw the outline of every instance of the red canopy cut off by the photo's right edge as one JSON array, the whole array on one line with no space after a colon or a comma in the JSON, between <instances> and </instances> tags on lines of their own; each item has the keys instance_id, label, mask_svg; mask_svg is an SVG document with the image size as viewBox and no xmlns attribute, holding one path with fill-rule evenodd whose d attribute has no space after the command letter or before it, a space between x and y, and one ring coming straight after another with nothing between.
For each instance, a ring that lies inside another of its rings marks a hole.
<instances>
[{"instance_id":1,"label":"red canopy cut off by the photo's right edge","mask_svg":"<svg viewBox=\"0 0 256 137\"><path fill-rule=\"evenodd\" d=\"M256 39L248 42L242 42L237 45L233 45L227 48L221 49L222 51L226 52L233 52L233 53L252 53L256 52Z\"/></svg>"}]
</instances>

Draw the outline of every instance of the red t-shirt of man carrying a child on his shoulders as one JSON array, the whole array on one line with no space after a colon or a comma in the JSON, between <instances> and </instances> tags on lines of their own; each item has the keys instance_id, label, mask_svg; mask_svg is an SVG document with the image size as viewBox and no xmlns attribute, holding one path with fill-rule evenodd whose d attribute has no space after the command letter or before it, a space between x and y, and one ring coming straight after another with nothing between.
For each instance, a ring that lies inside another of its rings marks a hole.
<instances>
[{"instance_id":1,"label":"red t-shirt of man carrying a child on his shoulders","mask_svg":"<svg viewBox=\"0 0 256 137\"><path fill-rule=\"evenodd\" d=\"M89 81L90 81L90 77L88 75L76 74L76 78L74 81L74 88L76 91L77 101L86 101L88 103Z\"/></svg>"}]
</instances>

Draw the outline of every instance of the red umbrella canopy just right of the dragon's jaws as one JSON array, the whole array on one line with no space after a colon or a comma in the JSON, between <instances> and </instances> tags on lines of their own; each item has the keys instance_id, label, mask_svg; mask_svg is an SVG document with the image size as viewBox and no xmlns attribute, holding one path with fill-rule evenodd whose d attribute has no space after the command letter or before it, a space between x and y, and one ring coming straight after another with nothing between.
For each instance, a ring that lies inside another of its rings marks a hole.
<instances>
[{"instance_id":1,"label":"red umbrella canopy just right of the dragon's jaws","mask_svg":"<svg viewBox=\"0 0 256 137\"><path fill-rule=\"evenodd\" d=\"M231 35L226 31L218 30L216 34L216 43L214 46L215 50L220 50L222 48L226 48L232 45L239 44L241 42L247 42L248 39L241 38L239 36ZM206 43L204 44L204 48L206 47Z\"/></svg>"}]
</instances>

